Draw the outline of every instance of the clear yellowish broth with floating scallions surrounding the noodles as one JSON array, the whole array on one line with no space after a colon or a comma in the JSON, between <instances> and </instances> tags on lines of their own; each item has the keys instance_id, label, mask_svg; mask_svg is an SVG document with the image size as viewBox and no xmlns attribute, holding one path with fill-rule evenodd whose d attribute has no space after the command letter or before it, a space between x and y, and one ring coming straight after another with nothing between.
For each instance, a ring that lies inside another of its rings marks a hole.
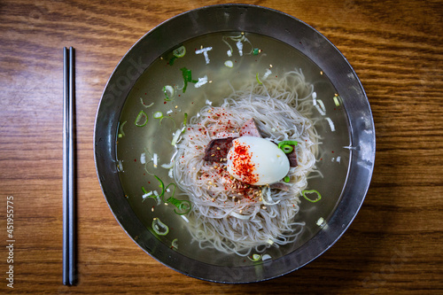
<instances>
[{"instance_id":1,"label":"clear yellowish broth with floating scallions surrounding the noodles","mask_svg":"<svg viewBox=\"0 0 443 295\"><path fill-rule=\"evenodd\" d=\"M245 38L239 44L242 34ZM190 70L184 78L183 68ZM185 113L189 120L206 105L221 105L234 89L270 77L278 79L294 69L302 72L315 93L307 99L312 105L308 119L315 123L320 136L315 163L318 173L308 177L306 190L317 190L322 198L313 203L299 196L299 213L294 221L305 222L305 226L297 240L290 245L271 246L260 254L278 259L327 227L346 183L350 156L348 120L339 93L321 68L291 46L264 35L223 32L191 39L157 58L136 82L120 114L116 135L120 182L146 230L173 251L194 260L223 266L260 263L210 247L201 249L188 232L183 218L186 214L179 215L173 204L153 198L154 190L162 190L154 175L165 185L175 182L167 165L175 156L172 142L177 129L183 128ZM146 197L149 192L152 195ZM175 198L186 200L187 196L177 187ZM167 225L167 235L152 229L154 219Z\"/></svg>"}]
</instances>

